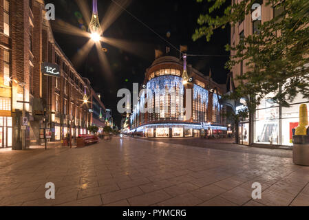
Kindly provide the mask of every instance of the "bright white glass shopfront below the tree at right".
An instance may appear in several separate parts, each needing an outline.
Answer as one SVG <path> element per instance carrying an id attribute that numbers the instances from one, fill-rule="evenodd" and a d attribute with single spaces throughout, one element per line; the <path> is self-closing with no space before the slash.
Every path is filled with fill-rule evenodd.
<path id="1" fill-rule="evenodd" d="M 293 129 L 299 124 L 299 107 L 309 100 L 297 96 L 290 107 L 281 107 L 271 99 L 262 100 L 251 120 L 239 124 L 239 144 L 292 146 Z"/>

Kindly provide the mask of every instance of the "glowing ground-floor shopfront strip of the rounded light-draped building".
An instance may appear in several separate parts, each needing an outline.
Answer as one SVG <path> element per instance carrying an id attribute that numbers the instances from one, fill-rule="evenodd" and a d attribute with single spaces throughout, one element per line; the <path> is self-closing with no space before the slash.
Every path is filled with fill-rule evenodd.
<path id="1" fill-rule="evenodd" d="M 204 137 L 226 135 L 226 127 L 202 124 L 148 124 L 133 129 L 130 133 L 139 133 L 145 137 Z"/>

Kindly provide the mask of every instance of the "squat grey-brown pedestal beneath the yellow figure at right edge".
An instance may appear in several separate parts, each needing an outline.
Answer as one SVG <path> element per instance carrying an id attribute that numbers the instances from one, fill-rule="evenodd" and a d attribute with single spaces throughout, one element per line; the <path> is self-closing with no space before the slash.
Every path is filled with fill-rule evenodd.
<path id="1" fill-rule="evenodd" d="M 293 163 L 309 166 L 309 135 L 293 135 Z"/>

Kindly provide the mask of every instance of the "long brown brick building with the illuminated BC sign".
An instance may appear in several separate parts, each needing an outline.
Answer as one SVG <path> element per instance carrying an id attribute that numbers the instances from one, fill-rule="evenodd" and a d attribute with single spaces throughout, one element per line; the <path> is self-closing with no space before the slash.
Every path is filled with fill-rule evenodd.
<path id="1" fill-rule="evenodd" d="M 40 144 L 45 128 L 49 141 L 87 133 L 92 100 L 105 109 L 54 41 L 43 0 L 0 1 L 0 58 L 0 147 Z"/>

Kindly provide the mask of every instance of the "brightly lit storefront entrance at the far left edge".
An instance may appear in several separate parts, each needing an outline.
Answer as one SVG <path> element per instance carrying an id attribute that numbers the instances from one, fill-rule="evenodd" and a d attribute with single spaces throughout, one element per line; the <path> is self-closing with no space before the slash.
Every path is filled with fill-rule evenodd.
<path id="1" fill-rule="evenodd" d="M 12 117 L 0 117 L 0 148 L 12 147 Z"/>

